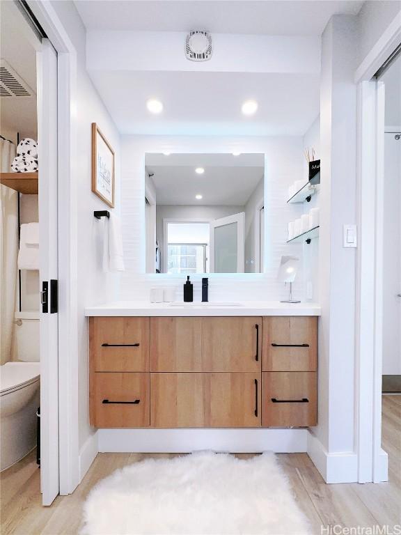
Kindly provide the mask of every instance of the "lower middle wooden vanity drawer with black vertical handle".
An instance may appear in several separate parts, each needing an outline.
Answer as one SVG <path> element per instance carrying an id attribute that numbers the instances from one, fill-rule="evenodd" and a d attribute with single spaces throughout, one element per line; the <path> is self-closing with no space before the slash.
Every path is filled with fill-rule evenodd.
<path id="1" fill-rule="evenodd" d="M 260 427 L 260 373 L 150 373 L 150 426 Z"/>

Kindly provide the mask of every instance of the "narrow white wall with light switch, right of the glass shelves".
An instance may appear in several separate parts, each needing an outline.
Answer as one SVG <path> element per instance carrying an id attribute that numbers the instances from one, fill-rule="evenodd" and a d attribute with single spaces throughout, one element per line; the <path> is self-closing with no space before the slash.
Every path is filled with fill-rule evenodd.
<path id="1" fill-rule="evenodd" d="M 312 458 L 321 472 L 340 454 L 354 463 L 356 249 L 344 249 L 344 223 L 356 222 L 356 17 L 335 15 L 322 36 L 320 93 L 320 304 L 318 425 Z M 329 453 L 330 457 L 327 457 Z M 322 458 L 324 462 L 322 463 Z M 352 470 L 351 470 L 352 465 Z M 332 474 L 331 474 L 332 475 Z M 333 479 L 332 479 L 333 481 Z M 341 481 L 341 479 L 340 479 Z M 345 481 L 345 479 L 343 479 Z"/>

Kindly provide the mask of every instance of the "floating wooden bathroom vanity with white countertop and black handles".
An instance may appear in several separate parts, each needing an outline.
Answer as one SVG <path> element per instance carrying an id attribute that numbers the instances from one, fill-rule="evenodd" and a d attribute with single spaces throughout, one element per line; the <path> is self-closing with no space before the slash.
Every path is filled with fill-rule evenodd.
<path id="1" fill-rule="evenodd" d="M 312 304 L 114 304 L 86 310 L 97 428 L 317 424 Z"/>

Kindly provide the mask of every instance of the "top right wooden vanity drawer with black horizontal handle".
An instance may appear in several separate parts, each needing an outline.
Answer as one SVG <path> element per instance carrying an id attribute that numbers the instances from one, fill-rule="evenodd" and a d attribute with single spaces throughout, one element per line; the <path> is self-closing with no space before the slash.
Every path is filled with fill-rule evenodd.
<path id="1" fill-rule="evenodd" d="M 317 318 L 263 318 L 263 371 L 316 371 Z"/>

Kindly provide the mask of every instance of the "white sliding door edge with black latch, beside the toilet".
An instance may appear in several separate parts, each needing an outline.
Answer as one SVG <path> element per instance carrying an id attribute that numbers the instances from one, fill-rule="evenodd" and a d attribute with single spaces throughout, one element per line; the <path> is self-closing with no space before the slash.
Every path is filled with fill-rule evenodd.
<path id="1" fill-rule="evenodd" d="M 40 289 L 48 284 L 40 306 L 40 483 L 42 504 L 50 505 L 59 491 L 58 313 L 56 289 L 50 289 L 58 279 L 57 54 L 47 39 L 38 52 L 38 153 Z"/>

